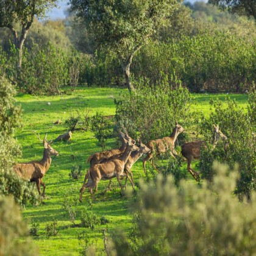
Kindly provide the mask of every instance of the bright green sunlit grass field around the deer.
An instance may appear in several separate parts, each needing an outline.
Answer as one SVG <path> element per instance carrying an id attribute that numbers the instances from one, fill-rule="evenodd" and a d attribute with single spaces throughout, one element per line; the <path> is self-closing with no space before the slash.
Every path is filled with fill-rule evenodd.
<path id="1" fill-rule="evenodd" d="M 40 160 L 43 155 L 43 145 L 34 135 L 34 131 L 40 133 L 41 138 L 48 133 L 48 140 L 52 140 L 62 133 L 66 132 L 63 124 L 54 125 L 54 121 L 61 119 L 65 121 L 70 112 L 75 110 L 85 111 L 89 108 L 90 115 L 101 112 L 104 115 L 115 115 L 114 98 L 118 98 L 119 93 L 124 91 L 117 88 L 82 88 L 74 93 L 63 96 L 30 96 L 27 94 L 18 94 L 16 100 L 23 107 L 23 129 L 16 133 L 19 143 L 23 147 L 23 158 L 18 159 L 19 162 L 27 162 L 30 160 Z M 219 98 L 224 100 L 224 94 L 193 94 L 193 105 L 191 110 L 202 111 L 205 116 L 210 113 L 210 99 Z M 242 94 L 229 94 L 229 97 L 236 99 L 241 107 L 246 108 L 247 96 Z M 48 102 L 51 104 L 48 105 Z M 189 127 L 185 127 L 186 130 Z M 111 148 L 113 141 L 107 144 L 107 149 Z M 54 143 L 52 147 L 59 151 L 58 157 L 52 157 L 52 164 L 44 176 L 46 183 L 46 196 L 44 204 L 38 206 L 28 205 L 23 211 L 24 218 L 40 222 L 39 236 L 34 238 L 35 243 L 39 247 L 41 255 L 78 255 L 80 246 L 77 236 L 86 230 L 89 243 L 93 243 L 97 247 L 99 255 L 104 254 L 102 229 L 104 226 L 96 227 L 96 229 L 85 229 L 79 226 L 73 226 L 68 216 L 63 210 L 63 201 L 67 197 L 79 198 L 79 190 L 82 186 L 84 176 L 79 180 L 73 180 L 69 177 L 69 172 L 73 165 L 81 164 L 83 174 L 88 168 L 86 163 L 87 157 L 94 152 L 101 151 L 96 146 L 96 139 L 93 133 L 77 131 L 73 133 L 71 143 Z M 72 157 L 72 155 L 74 157 Z M 135 181 L 143 179 L 144 173 L 142 162 L 137 162 L 133 166 Z M 117 227 L 123 230 L 129 230 L 132 225 L 132 215 L 127 207 L 129 201 L 126 197 L 120 195 L 116 180 L 114 181 L 114 189 L 102 193 L 107 188 L 108 182 L 99 183 L 98 193 L 96 193 L 96 201 L 91 201 L 90 194 L 85 191 L 83 202 L 79 204 L 78 209 L 84 207 L 93 207 L 93 212 L 99 216 L 106 216 L 109 219 L 107 224 L 108 230 L 114 230 Z M 115 188 L 116 187 L 116 188 Z M 79 211 L 78 211 L 79 212 Z M 57 236 L 51 236 L 49 239 L 45 235 L 45 226 L 49 222 L 56 220 L 59 222 L 60 231 Z M 78 214 L 76 224 L 80 223 Z"/>

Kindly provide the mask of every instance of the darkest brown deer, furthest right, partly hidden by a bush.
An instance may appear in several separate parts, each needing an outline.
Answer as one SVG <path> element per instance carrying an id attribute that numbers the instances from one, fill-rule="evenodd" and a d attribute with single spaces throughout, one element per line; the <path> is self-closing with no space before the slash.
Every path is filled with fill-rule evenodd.
<path id="1" fill-rule="evenodd" d="M 213 131 L 213 149 L 215 149 L 216 144 L 218 143 L 219 139 L 221 138 L 222 140 L 227 140 L 226 135 L 224 135 L 221 130 L 219 130 L 219 126 L 215 126 L 213 124 L 214 131 Z M 201 147 L 204 146 L 206 148 L 206 142 L 204 140 L 202 141 L 193 141 L 193 142 L 188 142 L 182 145 L 182 155 L 187 159 L 188 166 L 187 169 L 190 172 L 190 174 L 194 177 L 195 180 L 199 181 L 200 176 L 199 173 L 194 171 L 191 168 L 191 162 L 193 159 L 200 159 L 201 157 Z M 226 150 L 227 144 L 225 145 L 225 150 Z"/>

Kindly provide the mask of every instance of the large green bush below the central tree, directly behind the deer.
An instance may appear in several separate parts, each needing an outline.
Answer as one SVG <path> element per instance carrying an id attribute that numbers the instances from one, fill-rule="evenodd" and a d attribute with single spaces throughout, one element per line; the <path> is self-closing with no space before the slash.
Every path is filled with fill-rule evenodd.
<path id="1" fill-rule="evenodd" d="M 144 143 L 170 136 L 176 120 L 182 125 L 189 120 L 190 93 L 176 83 L 171 87 L 164 80 L 150 87 L 148 82 L 140 82 L 136 91 L 115 101 L 116 120 L 132 138 L 140 137 Z"/>

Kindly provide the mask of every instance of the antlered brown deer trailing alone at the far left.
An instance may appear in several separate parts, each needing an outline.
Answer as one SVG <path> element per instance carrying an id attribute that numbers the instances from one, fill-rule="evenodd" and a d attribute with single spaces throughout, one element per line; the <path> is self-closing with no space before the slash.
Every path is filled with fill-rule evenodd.
<path id="1" fill-rule="evenodd" d="M 13 167 L 13 170 L 20 176 L 21 178 L 25 180 L 29 180 L 30 182 L 35 182 L 37 184 L 37 190 L 40 196 L 44 197 L 44 191 L 46 185 L 42 181 L 43 176 L 48 171 L 52 159 L 51 155 L 59 155 L 59 152 L 55 151 L 50 145 L 51 141 L 48 142 L 46 139 L 46 136 L 44 137 L 44 140 L 41 140 L 40 137 L 38 139 L 43 142 L 44 144 L 44 151 L 43 151 L 43 159 L 41 161 L 31 161 L 28 163 L 16 163 L 16 165 Z M 43 193 L 41 194 L 40 185 L 43 185 Z"/>

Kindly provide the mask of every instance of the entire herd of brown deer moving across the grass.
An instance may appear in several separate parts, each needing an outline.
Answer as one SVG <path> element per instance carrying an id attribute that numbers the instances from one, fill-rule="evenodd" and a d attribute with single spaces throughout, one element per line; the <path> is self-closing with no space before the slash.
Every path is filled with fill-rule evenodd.
<path id="1" fill-rule="evenodd" d="M 213 127 L 214 130 L 212 150 L 215 149 L 219 139 L 227 140 L 227 137 L 221 132 L 219 126 L 215 126 L 215 124 L 213 124 Z M 155 155 L 169 152 L 171 157 L 176 158 L 177 152 L 174 149 L 174 144 L 179 134 L 185 130 L 176 122 L 176 126 L 172 130 L 172 133 L 169 137 L 151 140 L 148 142 L 148 144 L 145 145 L 140 140 L 133 140 L 131 137 L 129 137 L 126 129 L 124 127 L 122 128 L 124 130 L 124 133 L 121 132 L 121 130 L 118 131 L 118 136 L 121 141 L 120 148 L 97 152 L 88 157 L 87 163 L 90 163 L 90 168 L 85 174 L 84 183 L 82 185 L 82 188 L 80 189 L 80 202 L 82 202 L 82 195 L 86 188 L 88 188 L 91 196 L 94 198 L 94 193 L 97 191 L 98 183 L 100 182 L 100 180 L 110 180 L 111 182 L 111 180 L 116 177 L 119 183 L 119 187 L 121 188 L 121 192 L 123 193 L 124 188 L 121 184 L 121 177 L 126 177 L 124 187 L 126 187 L 128 179 L 134 190 L 135 185 L 132 174 L 132 166 L 134 165 L 134 163 L 137 162 L 137 160 L 142 155 L 146 155 L 146 157 L 144 157 L 143 159 L 143 169 L 144 173 L 146 174 L 146 162 L 149 160 L 153 168 L 157 169 L 152 161 Z M 37 184 L 38 193 L 40 194 L 40 196 L 44 197 L 46 185 L 44 184 L 42 179 L 51 165 L 51 156 L 57 156 L 59 155 L 59 152 L 55 151 L 55 149 L 52 148 L 52 141 L 47 140 L 47 134 L 44 137 L 44 140 L 41 140 L 39 135 L 37 135 L 37 137 L 41 142 L 43 142 L 44 145 L 42 160 L 34 160 L 27 163 L 16 163 L 16 165 L 13 166 L 13 170 L 21 178 L 28 180 L 29 182 L 35 182 Z M 200 180 L 200 176 L 198 172 L 194 171 L 191 168 L 191 162 L 193 159 L 200 158 L 202 147 L 207 147 L 207 143 L 205 141 L 188 142 L 183 144 L 181 147 L 181 154 L 183 158 L 187 160 L 188 172 L 190 172 L 190 174 L 197 181 Z M 41 193 L 40 190 L 41 185 L 43 186 L 43 193 Z M 109 183 L 108 187 L 110 187 L 110 185 L 111 183 Z"/>

